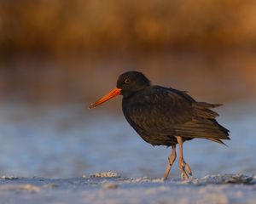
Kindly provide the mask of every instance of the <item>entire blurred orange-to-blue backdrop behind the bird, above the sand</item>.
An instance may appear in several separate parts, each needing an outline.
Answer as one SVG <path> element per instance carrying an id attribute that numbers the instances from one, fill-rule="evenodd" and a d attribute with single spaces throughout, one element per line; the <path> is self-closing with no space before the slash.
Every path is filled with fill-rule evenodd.
<path id="1" fill-rule="evenodd" d="M 184 144 L 195 177 L 255 174 L 255 12 L 253 0 L 0 0 L 1 175 L 162 176 L 171 150 L 137 136 L 121 97 L 87 108 L 124 71 L 224 104 L 229 148 Z"/>

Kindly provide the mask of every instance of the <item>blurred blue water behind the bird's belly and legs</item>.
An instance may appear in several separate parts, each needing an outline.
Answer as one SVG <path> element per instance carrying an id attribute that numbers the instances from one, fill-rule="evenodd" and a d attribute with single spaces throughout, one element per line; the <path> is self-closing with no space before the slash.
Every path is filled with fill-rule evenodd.
<path id="1" fill-rule="evenodd" d="M 1 104 L 1 175 L 69 178 L 112 170 L 128 177 L 163 176 L 171 150 L 145 143 L 119 106 Z M 184 144 L 185 161 L 195 177 L 256 174 L 255 105 L 228 104 L 218 112 L 218 121 L 230 129 L 229 147 L 194 139 Z M 179 177 L 177 161 L 171 176 Z"/>

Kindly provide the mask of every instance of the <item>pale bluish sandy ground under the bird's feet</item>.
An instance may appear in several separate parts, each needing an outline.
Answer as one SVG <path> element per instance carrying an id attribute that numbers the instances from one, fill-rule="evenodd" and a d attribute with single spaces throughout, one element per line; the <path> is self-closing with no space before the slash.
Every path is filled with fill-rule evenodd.
<path id="1" fill-rule="evenodd" d="M 123 178 L 96 173 L 80 178 L 0 179 L 0 203 L 256 203 L 256 177 L 212 175 L 186 181 Z"/>

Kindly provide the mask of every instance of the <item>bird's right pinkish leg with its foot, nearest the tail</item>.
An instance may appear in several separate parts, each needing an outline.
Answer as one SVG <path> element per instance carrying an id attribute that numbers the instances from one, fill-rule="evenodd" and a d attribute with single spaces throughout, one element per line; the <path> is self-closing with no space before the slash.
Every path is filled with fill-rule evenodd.
<path id="1" fill-rule="evenodd" d="M 189 173 L 189 175 L 191 176 L 192 172 L 189 165 L 183 159 L 183 139 L 180 136 L 176 136 L 176 139 L 177 139 L 178 148 L 179 148 L 178 168 L 181 173 L 181 178 L 187 179 L 189 178 L 187 173 Z"/>

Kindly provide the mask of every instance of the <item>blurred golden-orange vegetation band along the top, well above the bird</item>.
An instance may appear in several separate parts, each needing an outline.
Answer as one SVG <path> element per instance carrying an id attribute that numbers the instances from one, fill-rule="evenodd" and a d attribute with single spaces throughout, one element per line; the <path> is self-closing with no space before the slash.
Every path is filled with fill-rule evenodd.
<path id="1" fill-rule="evenodd" d="M 1 0 L 2 54 L 256 47 L 254 0 Z"/>

